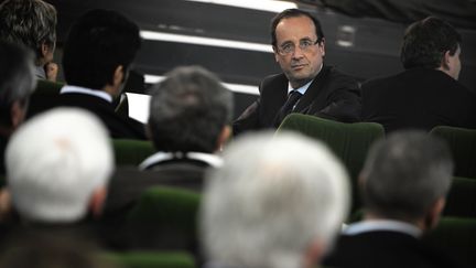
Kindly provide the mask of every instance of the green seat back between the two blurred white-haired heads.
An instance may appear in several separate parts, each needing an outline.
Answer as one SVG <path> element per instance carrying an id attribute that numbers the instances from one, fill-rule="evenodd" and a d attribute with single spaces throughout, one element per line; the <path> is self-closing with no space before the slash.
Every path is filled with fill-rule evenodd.
<path id="1" fill-rule="evenodd" d="M 191 190 L 149 187 L 127 215 L 131 244 L 196 253 L 199 203 L 201 194 Z"/>

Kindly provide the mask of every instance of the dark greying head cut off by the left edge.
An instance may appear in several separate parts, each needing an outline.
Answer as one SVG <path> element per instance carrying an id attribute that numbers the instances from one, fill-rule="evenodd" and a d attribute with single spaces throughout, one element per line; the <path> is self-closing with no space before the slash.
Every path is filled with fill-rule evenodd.
<path id="1" fill-rule="evenodd" d="M 33 54 L 21 44 L 0 41 L 0 126 L 12 127 L 11 108 L 26 108 L 36 86 Z"/>

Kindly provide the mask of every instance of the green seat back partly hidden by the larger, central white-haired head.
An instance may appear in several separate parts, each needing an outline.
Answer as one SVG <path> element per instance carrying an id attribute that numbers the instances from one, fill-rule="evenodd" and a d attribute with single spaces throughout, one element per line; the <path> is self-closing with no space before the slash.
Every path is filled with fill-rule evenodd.
<path id="1" fill-rule="evenodd" d="M 326 143 L 339 158 L 350 175 L 353 186 L 353 208 L 360 206 L 357 180 L 370 146 L 385 137 L 383 127 L 376 122 L 339 122 L 315 116 L 291 114 L 284 118 L 277 135 L 284 130 L 301 132 Z"/>

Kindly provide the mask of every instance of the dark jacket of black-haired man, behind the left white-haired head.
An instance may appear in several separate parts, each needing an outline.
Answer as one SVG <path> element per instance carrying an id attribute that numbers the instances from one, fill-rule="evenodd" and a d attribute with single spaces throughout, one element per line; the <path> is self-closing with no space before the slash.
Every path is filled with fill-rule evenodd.
<path id="1" fill-rule="evenodd" d="M 91 111 L 106 125 L 111 138 L 147 139 L 143 124 L 117 114 L 111 104 L 99 97 L 65 93 L 57 96 L 55 106 L 78 107 Z"/>

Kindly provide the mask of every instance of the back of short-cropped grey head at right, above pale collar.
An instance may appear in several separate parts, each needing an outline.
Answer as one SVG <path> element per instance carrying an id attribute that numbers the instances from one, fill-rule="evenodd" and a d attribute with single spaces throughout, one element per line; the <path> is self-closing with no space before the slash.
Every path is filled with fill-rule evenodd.
<path id="1" fill-rule="evenodd" d="M 453 161 L 446 143 L 425 132 L 398 131 L 372 146 L 360 190 L 369 212 L 415 221 L 445 197 L 452 178 Z"/>

